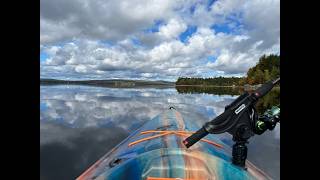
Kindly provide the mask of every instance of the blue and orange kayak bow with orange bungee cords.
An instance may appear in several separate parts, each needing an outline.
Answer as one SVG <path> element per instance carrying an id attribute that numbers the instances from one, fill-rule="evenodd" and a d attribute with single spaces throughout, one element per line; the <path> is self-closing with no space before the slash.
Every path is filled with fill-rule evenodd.
<path id="1" fill-rule="evenodd" d="M 232 164 L 232 149 L 209 134 L 190 148 L 183 140 L 201 126 L 171 108 L 145 123 L 77 180 L 271 179 L 248 160 Z"/>

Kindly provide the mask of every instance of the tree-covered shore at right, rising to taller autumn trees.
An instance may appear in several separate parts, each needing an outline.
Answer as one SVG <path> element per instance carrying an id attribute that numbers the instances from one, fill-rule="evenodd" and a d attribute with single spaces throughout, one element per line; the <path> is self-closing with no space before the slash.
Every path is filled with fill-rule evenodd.
<path id="1" fill-rule="evenodd" d="M 177 86 L 244 86 L 259 85 L 280 77 L 280 56 L 262 56 L 246 77 L 189 78 L 180 77 Z"/>

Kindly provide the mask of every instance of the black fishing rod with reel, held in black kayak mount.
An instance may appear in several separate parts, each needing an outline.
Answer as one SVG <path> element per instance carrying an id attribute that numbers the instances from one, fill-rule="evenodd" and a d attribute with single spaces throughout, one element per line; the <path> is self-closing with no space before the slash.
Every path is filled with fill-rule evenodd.
<path id="1" fill-rule="evenodd" d="M 233 136 L 235 144 L 232 146 L 232 163 L 240 167 L 245 166 L 247 158 L 248 139 L 254 134 L 262 134 L 266 130 L 273 130 L 280 122 L 280 108 L 273 107 L 263 116 L 256 113 L 256 102 L 265 96 L 280 82 L 280 77 L 263 84 L 253 93 L 245 92 L 225 107 L 225 111 L 206 122 L 202 128 L 186 138 L 183 143 L 189 148 L 206 135 L 228 132 Z"/>

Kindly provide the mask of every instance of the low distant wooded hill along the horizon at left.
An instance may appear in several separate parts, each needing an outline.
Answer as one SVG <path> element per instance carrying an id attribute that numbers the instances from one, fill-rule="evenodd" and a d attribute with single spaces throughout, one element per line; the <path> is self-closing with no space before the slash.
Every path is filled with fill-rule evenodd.
<path id="1" fill-rule="evenodd" d="M 169 81 L 147 81 L 147 80 L 58 80 L 58 79 L 40 79 L 40 85 L 90 85 L 102 87 L 130 88 L 130 87 L 167 87 L 174 86 L 174 82 Z"/>

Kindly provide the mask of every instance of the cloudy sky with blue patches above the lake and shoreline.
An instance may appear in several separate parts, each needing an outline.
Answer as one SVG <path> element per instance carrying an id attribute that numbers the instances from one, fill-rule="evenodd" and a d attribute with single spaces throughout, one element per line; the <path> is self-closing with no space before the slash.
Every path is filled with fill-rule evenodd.
<path id="1" fill-rule="evenodd" d="M 41 0 L 40 77 L 244 76 L 280 54 L 280 0 Z"/>

